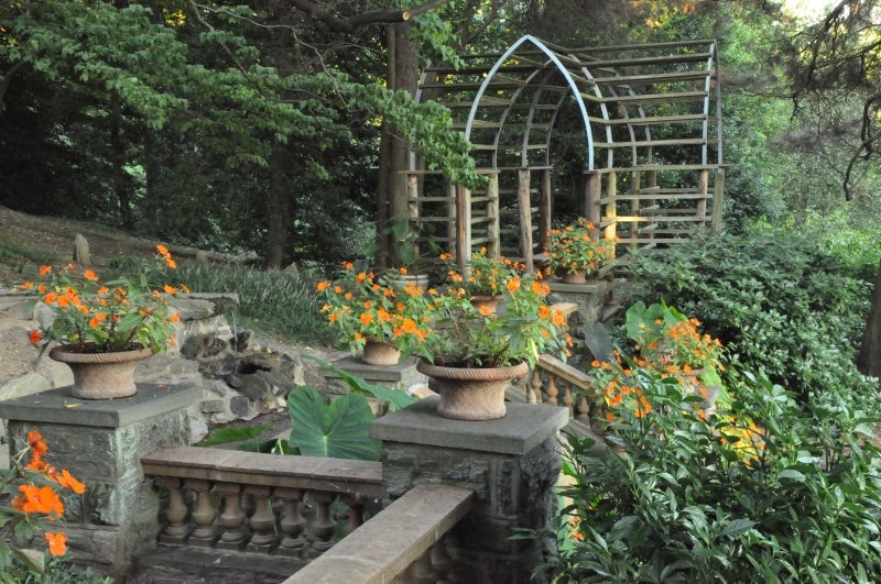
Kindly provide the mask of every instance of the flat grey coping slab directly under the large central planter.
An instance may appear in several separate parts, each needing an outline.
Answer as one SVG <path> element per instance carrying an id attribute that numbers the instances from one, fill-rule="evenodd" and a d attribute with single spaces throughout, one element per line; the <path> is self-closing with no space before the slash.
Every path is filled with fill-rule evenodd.
<path id="1" fill-rule="evenodd" d="M 439 397 L 428 397 L 370 425 L 370 436 L 383 441 L 499 454 L 525 454 L 559 431 L 569 420 L 566 408 L 507 403 L 503 418 L 450 420 L 437 411 Z"/>

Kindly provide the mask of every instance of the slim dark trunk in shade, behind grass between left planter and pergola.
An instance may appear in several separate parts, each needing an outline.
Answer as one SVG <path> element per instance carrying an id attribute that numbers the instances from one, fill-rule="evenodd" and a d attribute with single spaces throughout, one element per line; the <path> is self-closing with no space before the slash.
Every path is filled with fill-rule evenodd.
<path id="1" fill-rule="evenodd" d="M 269 192 L 267 192 L 267 267 L 283 267 L 287 260 L 287 228 L 291 224 L 291 183 L 287 170 L 291 156 L 283 145 L 276 145 L 269 158 Z"/>

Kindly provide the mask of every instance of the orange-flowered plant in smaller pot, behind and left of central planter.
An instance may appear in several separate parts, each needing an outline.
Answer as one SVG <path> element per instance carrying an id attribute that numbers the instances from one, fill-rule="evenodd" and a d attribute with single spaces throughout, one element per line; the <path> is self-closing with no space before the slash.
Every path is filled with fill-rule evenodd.
<path id="1" fill-rule="evenodd" d="M 418 335 L 423 329 L 417 319 L 423 318 L 431 301 L 422 286 L 401 276 L 406 276 L 406 269 L 378 276 L 357 272 L 347 262 L 335 280 L 318 283 L 317 291 L 324 300 L 320 311 L 339 332 L 344 346 L 357 352 L 368 339 L 396 345 L 404 333 Z"/>

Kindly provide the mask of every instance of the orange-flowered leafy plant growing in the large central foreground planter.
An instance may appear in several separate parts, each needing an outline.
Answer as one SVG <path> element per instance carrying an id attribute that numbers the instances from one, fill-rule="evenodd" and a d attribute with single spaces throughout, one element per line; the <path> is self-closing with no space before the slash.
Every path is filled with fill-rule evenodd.
<path id="1" fill-rule="evenodd" d="M 513 276 L 501 288 L 502 308 L 477 307 L 464 287 L 452 285 L 444 293 L 429 291 L 431 300 L 416 315 L 417 326 L 403 330 L 399 346 L 433 365 L 449 367 L 500 367 L 522 361 L 534 366 L 539 354 L 567 354 L 568 335 L 562 311 L 544 302 L 551 288 L 531 276 Z"/>

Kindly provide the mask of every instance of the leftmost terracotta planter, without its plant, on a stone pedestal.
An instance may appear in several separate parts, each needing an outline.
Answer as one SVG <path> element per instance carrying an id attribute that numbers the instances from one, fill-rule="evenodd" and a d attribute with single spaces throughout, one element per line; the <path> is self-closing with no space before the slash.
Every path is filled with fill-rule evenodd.
<path id="1" fill-rule="evenodd" d="M 152 349 L 137 349 L 115 353 L 78 353 L 62 345 L 52 349 L 48 356 L 67 364 L 74 373 L 70 390 L 79 399 L 113 399 L 133 396 L 134 367 L 153 354 Z"/>

